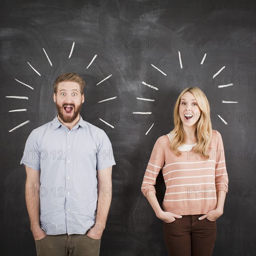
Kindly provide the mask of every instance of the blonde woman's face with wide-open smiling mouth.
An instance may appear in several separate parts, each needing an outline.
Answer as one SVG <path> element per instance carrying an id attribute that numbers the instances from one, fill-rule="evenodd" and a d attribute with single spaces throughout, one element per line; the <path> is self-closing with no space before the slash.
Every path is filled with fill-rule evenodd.
<path id="1" fill-rule="evenodd" d="M 182 95 L 179 110 L 183 126 L 196 126 L 201 109 L 197 105 L 194 94 L 186 92 Z"/>

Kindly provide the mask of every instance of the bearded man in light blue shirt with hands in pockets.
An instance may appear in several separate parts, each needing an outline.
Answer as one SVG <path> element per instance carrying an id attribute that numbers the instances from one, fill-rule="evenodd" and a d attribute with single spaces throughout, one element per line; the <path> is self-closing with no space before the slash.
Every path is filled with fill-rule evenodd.
<path id="1" fill-rule="evenodd" d="M 60 75 L 54 82 L 58 115 L 29 135 L 27 210 L 38 256 L 99 255 L 111 202 L 115 165 L 108 136 L 84 121 L 84 80 Z"/>

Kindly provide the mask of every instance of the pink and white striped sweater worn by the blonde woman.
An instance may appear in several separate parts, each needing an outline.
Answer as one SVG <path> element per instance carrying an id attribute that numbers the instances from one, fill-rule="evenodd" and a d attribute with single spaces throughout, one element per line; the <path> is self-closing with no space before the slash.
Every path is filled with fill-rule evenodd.
<path id="1" fill-rule="evenodd" d="M 164 211 L 178 215 L 206 214 L 216 209 L 219 190 L 228 192 L 228 174 L 221 134 L 212 130 L 210 158 L 196 155 L 192 150 L 176 156 L 169 148 L 168 135 L 155 142 L 146 169 L 141 191 L 155 192 L 155 179 L 162 169 L 166 185 Z M 223 192 L 222 192 L 223 193 Z"/>

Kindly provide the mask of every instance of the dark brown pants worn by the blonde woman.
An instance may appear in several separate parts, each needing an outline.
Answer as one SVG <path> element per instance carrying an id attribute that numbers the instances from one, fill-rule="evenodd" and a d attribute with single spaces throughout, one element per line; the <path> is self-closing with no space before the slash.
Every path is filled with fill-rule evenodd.
<path id="1" fill-rule="evenodd" d="M 185 215 L 174 222 L 163 222 L 169 256 L 211 256 L 216 239 L 216 221 L 200 215 Z"/>

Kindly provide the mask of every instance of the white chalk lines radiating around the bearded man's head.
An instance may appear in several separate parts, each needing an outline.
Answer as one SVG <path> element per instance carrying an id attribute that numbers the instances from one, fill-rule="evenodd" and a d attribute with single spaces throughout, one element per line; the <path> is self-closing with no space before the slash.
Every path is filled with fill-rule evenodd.
<path id="1" fill-rule="evenodd" d="M 70 58 L 72 57 L 72 54 L 73 54 L 73 51 L 74 51 L 74 45 L 75 45 L 75 42 L 73 42 L 73 44 L 72 44 L 72 47 L 71 47 L 71 49 L 70 49 L 70 53 L 69 53 L 69 55 L 68 55 L 68 59 L 70 59 Z M 53 67 L 53 64 L 52 64 L 52 62 L 51 62 L 51 60 L 50 60 L 50 58 L 49 58 L 49 56 L 48 56 L 46 50 L 45 50 L 43 47 L 42 47 L 42 50 L 43 50 L 44 54 L 46 55 L 46 58 L 47 58 L 48 62 L 50 63 L 50 66 Z M 88 68 L 88 67 L 90 67 L 90 66 L 92 65 L 92 63 L 94 62 L 94 60 L 96 59 L 96 57 L 97 57 L 97 54 L 94 55 L 93 59 L 91 60 L 91 62 L 89 63 L 89 65 L 88 65 L 86 68 Z M 41 76 L 41 74 L 37 71 L 37 69 L 35 69 L 28 61 L 27 61 L 27 64 L 34 70 L 34 72 L 35 72 L 36 74 L 38 74 L 39 76 Z M 107 80 L 107 79 L 108 79 L 109 77 L 111 77 L 111 76 L 112 76 L 112 74 L 108 75 L 105 79 L 103 79 L 102 81 L 100 81 L 99 83 L 97 83 L 97 85 L 101 84 L 103 81 Z M 15 80 L 16 80 L 17 82 L 19 82 L 20 84 L 25 85 L 25 86 L 27 86 L 28 88 L 34 90 L 34 88 L 31 87 L 30 85 L 28 85 L 28 84 L 26 84 L 26 83 L 23 83 L 22 81 L 19 81 L 19 80 L 17 80 L 17 79 L 15 79 Z M 6 98 L 28 100 L 28 97 L 27 97 L 27 96 L 6 96 Z M 102 100 L 102 101 L 98 101 L 98 103 L 101 103 L 101 102 L 104 102 L 104 101 L 114 100 L 114 99 L 116 99 L 116 98 L 117 98 L 117 96 L 112 97 L 112 98 L 108 98 L 108 99 L 105 99 L 105 100 Z M 144 100 L 148 100 L 148 99 L 144 99 Z M 148 100 L 148 101 L 149 101 L 149 100 Z M 9 112 L 21 112 L 21 111 L 27 111 L 27 108 L 20 108 L 20 109 L 9 110 Z M 99 118 L 99 119 L 100 119 L 102 122 L 104 122 L 105 124 L 107 124 L 109 127 L 114 128 L 113 125 L 111 125 L 111 124 L 109 124 L 108 122 L 102 120 L 101 118 Z M 30 122 L 30 120 L 25 121 L 25 122 L 21 123 L 20 125 L 18 125 L 18 126 L 16 126 L 16 127 L 12 128 L 11 130 L 9 130 L 9 132 L 13 132 L 14 130 L 16 130 L 16 129 L 22 127 L 23 125 L 25 125 L 25 124 L 27 124 L 27 123 L 29 123 L 29 122 Z"/>

